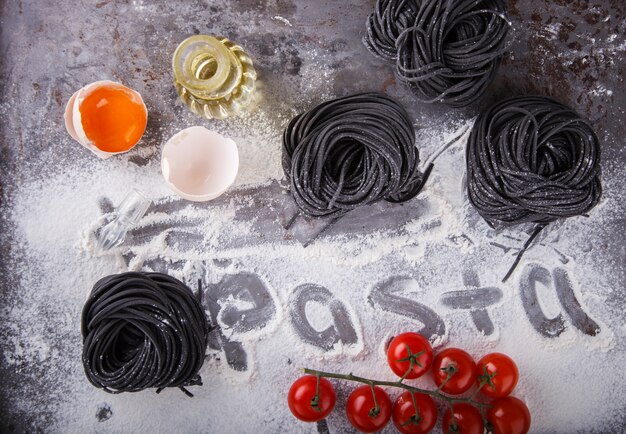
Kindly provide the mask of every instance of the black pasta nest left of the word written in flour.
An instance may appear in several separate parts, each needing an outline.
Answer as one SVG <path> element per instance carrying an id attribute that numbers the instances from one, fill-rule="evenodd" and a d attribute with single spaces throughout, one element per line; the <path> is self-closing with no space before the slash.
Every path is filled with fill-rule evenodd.
<path id="1" fill-rule="evenodd" d="M 198 288 L 200 291 L 201 288 Z M 94 285 L 82 312 L 83 366 L 109 393 L 201 385 L 209 324 L 199 300 L 161 273 L 128 272 Z"/>

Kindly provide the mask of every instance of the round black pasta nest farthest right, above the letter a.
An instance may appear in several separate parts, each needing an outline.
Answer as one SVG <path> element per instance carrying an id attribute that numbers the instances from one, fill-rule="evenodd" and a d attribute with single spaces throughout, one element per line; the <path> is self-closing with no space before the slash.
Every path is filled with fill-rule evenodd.
<path id="1" fill-rule="evenodd" d="M 491 225 L 547 223 L 590 211 L 600 200 L 600 145 L 569 107 L 514 97 L 483 112 L 467 143 L 467 190 Z"/>

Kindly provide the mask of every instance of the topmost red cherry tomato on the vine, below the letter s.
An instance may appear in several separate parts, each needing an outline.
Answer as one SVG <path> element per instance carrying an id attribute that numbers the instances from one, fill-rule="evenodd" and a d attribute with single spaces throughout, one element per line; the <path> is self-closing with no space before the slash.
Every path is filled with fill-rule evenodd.
<path id="1" fill-rule="evenodd" d="M 409 354 L 409 350 L 411 354 Z M 411 355 L 414 355 L 412 367 Z M 424 375 L 430 368 L 433 362 L 433 348 L 428 340 L 419 333 L 402 333 L 389 343 L 387 362 L 398 377 L 403 377 L 406 374 L 404 378 L 417 378 Z"/>

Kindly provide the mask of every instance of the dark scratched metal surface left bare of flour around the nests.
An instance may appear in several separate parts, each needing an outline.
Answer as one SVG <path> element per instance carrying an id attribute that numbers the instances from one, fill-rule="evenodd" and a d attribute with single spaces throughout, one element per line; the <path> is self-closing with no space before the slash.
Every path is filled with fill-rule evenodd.
<path id="1" fill-rule="evenodd" d="M 391 69 L 380 67 L 362 46 L 363 23 L 372 10 L 373 0 L 191 0 L 137 7 L 141 3 L 0 1 L 1 303 L 13 299 L 10 296 L 16 290 L 11 258 L 19 257 L 19 251 L 14 245 L 9 211 L 18 187 L 30 177 L 53 172 L 68 159 L 80 162 L 93 158 L 64 145 L 62 114 L 69 96 L 81 85 L 106 77 L 144 89 L 142 93 L 152 110 L 142 147 L 154 152 L 147 153 L 149 157 L 134 154 L 129 158 L 137 165 L 146 164 L 146 158 L 158 158 L 164 137 L 179 127 L 181 119 L 183 124 L 194 121 L 177 103 L 170 85 L 171 53 L 177 42 L 191 33 L 224 34 L 241 43 L 255 59 L 266 94 L 275 95 L 276 99 L 299 101 L 302 50 L 317 46 L 334 59 L 332 80 L 338 95 L 364 89 L 383 90 L 400 98 L 413 114 L 422 117 L 437 116 L 446 110 L 416 104 L 397 85 Z M 605 179 L 623 174 L 620 169 L 625 163 L 625 53 L 623 49 L 606 49 L 626 37 L 623 0 L 509 0 L 509 8 L 515 23 L 510 54 L 488 96 L 465 112 L 476 113 L 490 102 L 513 94 L 554 96 L 576 107 L 593 123 L 603 143 Z M 226 9 L 227 14 L 223 13 Z M 264 31 L 251 32 L 246 22 L 236 18 L 237 12 L 246 20 L 264 23 Z M 286 18 L 293 28 L 287 29 L 281 21 L 272 20 L 274 16 Z M 553 23 L 560 23 L 558 33 L 546 35 L 546 28 Z M 615 34 L 618 41 L 610 41 L 610 35 Z M 563 54 L 569 61 L 564 60 Z M 612 94 L 595 91 L 599 84 L 612 90 Z M 279 107 L 272 97 L 267 104 Z M 279 122 L 278 117 L 274 122 Z M 170 130 L 165 131 L 160 125 L 170 125 Z M 624 190 L 624 181 L 615 181 L 617 191 Z M 272 192 L 263 194 L 271 196 Z M 333 230 L 345 233 L 357 226 L 346 223 Z M 610 222 L 603 233 L 601 254 L 617 264 L 615 272 L 623 287 L 623 219 Z M 613 302 L 623 305 L 624 298 Z M 31 425 L 28 411 L 12 406 L 12 394 L 19 393 L 20 381 L 36 379 L 23 378 L 22 374 L 0 366 L 0 428 L 45 431 L 45 426 Z M 51 397 L 53 392 L 41 390 Z M 624 415 L 616 416 L 623 421 Z M 615 427 L 615 420 L 599 420 L 599 432 L 605 423 Z"/>

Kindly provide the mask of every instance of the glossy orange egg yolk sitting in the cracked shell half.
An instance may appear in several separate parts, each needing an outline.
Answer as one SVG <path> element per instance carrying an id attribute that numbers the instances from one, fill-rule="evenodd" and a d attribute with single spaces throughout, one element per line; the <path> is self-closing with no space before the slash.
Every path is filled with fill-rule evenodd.
<path id="1" fill-rule="evenodd" d="M 141 98 L 122 85 L 93 89 L 79 111 L 85 135 L 105 152 L 128 151 L 141 139 L 148 122 Z"/>

